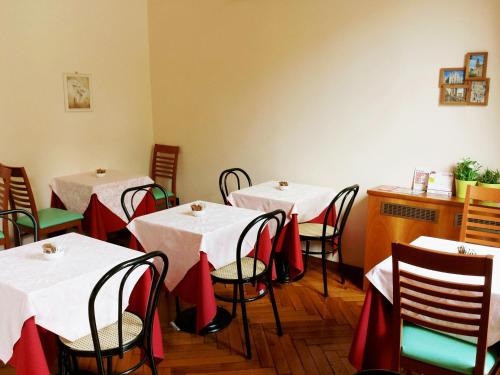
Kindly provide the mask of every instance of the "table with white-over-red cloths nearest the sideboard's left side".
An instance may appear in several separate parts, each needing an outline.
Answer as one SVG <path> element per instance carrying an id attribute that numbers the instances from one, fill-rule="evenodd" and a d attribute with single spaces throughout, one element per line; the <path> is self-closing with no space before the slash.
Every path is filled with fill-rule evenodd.
<path id="1" fill-rule="evenodd" d="M 276 259 L 281 281 L 297 278 L 304 272 L 299 223 L 323 223 L 326 209 L 335 197 L 329 187 L 279 181 L 267 181 L 233 191 L 228 202 L 235 207 L 263 212 L 281 209 L 286 213 L 285 226 L 278 239 Z M 335 210 L 331 210 L 328 222 L 333 225 Z M 286 265 L 286 267 L 283 267 Z M 285 268 L 285 269 L 284 269 Z"/>

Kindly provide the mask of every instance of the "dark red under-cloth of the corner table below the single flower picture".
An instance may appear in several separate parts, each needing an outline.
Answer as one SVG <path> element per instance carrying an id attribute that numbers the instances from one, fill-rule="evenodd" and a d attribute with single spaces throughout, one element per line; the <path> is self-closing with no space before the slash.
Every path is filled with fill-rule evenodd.
<path id="1" fill-rule="evenodd" d="M 52 192 L 50 206 L 63 210 L 66 209 L 64 203 L 54 192 Z M 137 206 L 134 217 L 155 211 L 156 204 L 154 198 L 151 194 L 146 194 L 142 202 Z M 89 205 L 83 213 L 83 229 L 90 237 L 106 241 L 108 233 L 121 230 L 126 225 L 126 222 L 99 201 L 96 194 L 92 194 Z"/>

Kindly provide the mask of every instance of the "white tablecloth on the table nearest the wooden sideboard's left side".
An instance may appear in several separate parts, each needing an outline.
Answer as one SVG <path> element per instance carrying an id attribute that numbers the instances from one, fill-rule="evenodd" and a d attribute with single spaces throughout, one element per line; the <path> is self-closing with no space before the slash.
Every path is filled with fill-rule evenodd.
<path id="1" fill-rule="evenodd" d="M 335 191 L 328 187 L 289 183 L 287 190 L 280 190 L 277 181 L 269 181 L 233 191 L 228 200 L 235 207 L 264 212 L 281 209 L 287 222 L 297 214 L 298 222 L 304 223 L 319 216 L 334 197 Z"/>

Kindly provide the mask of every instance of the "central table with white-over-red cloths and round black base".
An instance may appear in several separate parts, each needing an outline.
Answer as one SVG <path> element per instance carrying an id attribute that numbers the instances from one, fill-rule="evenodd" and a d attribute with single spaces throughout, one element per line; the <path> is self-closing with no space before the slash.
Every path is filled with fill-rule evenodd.
<path id="1" fill-rule="evenodd" d="M 203 208 L 194 213 L 192 205 Z M 143 215 L 130 222 L 131 247 L 159 250 L 169 259 L 165 285 L 181 300 L 195 305 L 178 313 L 174 324 L 179 329 L 199 334 L 216 332 L 232 317 L 217 306 L 210 272 L 236 261 L 237 243 L 245 227 L 262 212 L 211 202 L 192 202 Z M 195 216 L 197 215 L 197 216 Z M 258 257 L 269 261 L 269 231 L 262 232 Z M 257 228 L 242 243 L 241 256 L 251 253 Z M 137 242 L 136 242 L 137 241 Z"/>

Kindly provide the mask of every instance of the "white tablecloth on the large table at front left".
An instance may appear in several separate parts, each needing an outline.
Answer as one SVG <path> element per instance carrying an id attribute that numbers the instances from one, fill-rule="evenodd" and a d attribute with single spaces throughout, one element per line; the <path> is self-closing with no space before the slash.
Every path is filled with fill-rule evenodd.
<path id="1" fill-rule="evenodd" d="M 64 247 L 65 254 L 43 258 L 41 245 L 47 242 Z M 10 359 L 24 322 L 32 316 L 37 325 L 68 340 L 88 335 L 88 301 L 95 284 L 115 265 L 141 255 L 77 233 L 0 251 L 0 360 Z M 143 273 L 138 270 L 127 281 L 124 308 Z M 117 319 L 119 281 L 113 277 L 99 292 L 99 327 Z"/>

